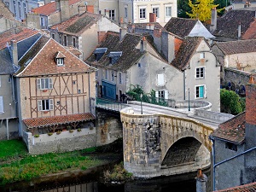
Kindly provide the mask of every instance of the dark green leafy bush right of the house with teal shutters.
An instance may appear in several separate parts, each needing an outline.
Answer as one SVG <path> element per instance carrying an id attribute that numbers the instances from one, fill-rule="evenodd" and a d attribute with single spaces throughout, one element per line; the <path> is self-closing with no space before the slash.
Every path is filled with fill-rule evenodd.
<path id="1" fill-rule="evenodd" d="M 223 113 L 238 114 L 245 110 L 245 100 L 233 90 L 220 90 L 220 108 Z"/>

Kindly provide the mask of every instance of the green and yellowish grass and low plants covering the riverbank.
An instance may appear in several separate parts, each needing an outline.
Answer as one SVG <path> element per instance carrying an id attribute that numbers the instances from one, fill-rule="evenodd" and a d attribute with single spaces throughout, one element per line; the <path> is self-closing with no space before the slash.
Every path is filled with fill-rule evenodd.
<path id="1" fill-rule="evenodd" d="M 120 143 L 120 141 L 116 143 Z M 102 157 L 103 153 L 118 152 L 109 154 L 112 160 L 120 159 L 120 154 L 122 154 L 119 153 L 120 148 L 113 147 L 113 144 L 67 153 L 38 155 L 28 154 L 26 145 L 21 140 L 1 141 L 0 148 L 0 185 L 29 181 L 52 173 L 84 171 L 109 161 Z"/>

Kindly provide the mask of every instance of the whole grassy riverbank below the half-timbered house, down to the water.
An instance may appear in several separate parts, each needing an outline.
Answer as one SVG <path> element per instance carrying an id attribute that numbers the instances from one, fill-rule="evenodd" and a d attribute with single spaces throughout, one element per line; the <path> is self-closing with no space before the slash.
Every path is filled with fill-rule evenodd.
<path id="1" fill-rule="evenodd" d="M 96 172 L 101 172 L 100 169 L 103 171 L 122 159 L 120 141 L 99 148 L 39 155 L 28 154 L 23 145 L 17 140 L 0 142 L 0 147 L 3 147 L 0 154 L 0 185 L 30 181 L 33 186 L 50 181 L 65 183 L 67 179 L 76 181 L 86 175 L 92 178 Z"/>

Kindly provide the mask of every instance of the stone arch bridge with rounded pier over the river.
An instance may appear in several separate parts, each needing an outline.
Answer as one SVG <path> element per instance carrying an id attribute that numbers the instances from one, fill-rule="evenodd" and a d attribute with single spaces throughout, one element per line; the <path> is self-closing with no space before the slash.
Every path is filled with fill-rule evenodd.
<path id="1" fill-rule="evenodd" d="M 211 165 L 213 128 L 196 119 L 121 110 L 124 165 L 135 177 L 194 172 Z"/>

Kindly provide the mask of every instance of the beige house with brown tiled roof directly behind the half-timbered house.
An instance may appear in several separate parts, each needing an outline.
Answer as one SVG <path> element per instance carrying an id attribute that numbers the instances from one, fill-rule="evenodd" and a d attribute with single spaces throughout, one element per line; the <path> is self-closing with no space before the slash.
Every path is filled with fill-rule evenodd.
<path id="1" fill-rule="evenodd" d="M 109 30 L 119 32 L 120 26 L 104 15 L 86 12 L 74 15 L 69 20 L 51 26 L 51 37 L 64 46 L 73 46 L 79 49 L 86 59 L 96 48 L 100 39 Z"/>

